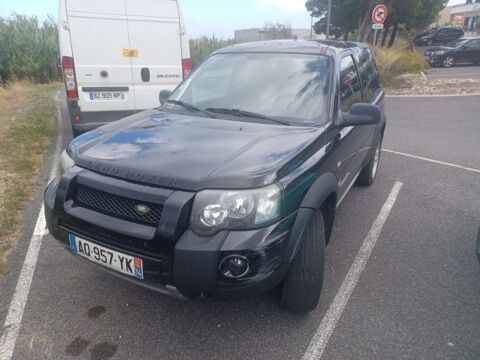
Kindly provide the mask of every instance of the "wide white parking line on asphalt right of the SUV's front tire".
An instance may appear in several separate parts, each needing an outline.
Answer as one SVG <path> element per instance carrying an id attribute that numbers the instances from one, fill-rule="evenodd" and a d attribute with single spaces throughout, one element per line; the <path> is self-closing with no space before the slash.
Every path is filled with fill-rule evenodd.
<path id="1" fill-rule="evenodd" d="M 343 280 L 340 289 L 338 289 L 335 298 L 333 299 L 332 303 L 330 304 L 327 313 L 325 314 L 320 326 L 317 329 L 317 332 L 313 336 L 310 345 L 308 346 L 307 351 L 303 355 L 303 360 L 313 360 L 313 359 L 320 359 L 323 352 L 325 351 L 325 347 L 327 346 L 328 340 L 332 335 L 335 327 L 338 323 L 338 320 L 342 316 L 345 307 L 348 304 L 348 300 L 357 285 L 358 279 L 362 275 L 365 266 L 367 265 L 367 261 L 372 254 L 373 248 L 375 247 L 378 238 L 382 232 L 383 226 L 385 225 L 388 216 L 390 215 L 390 211 L 393 208 L 393 205 L 397 201 L 398 194 L 402 189 L 403 183 L 396 182 L 390 192 L 390 195 L 387 198 L 387 201 L 380 210 L 380 213 L 377 216 L 377 219 L 372 225 L 370 232 L 368 233 L 367 237 L 363 241 L 363 244 L 358 251 L 355 260 L 353 261 L 352 266 L 350 266 L 350 270 L 348 271 L 347 276 Z"/>

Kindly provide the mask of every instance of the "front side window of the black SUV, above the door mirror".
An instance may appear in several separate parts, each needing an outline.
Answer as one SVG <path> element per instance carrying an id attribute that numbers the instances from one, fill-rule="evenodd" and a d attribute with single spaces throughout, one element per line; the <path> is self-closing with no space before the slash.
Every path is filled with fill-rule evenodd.
<path id="1" fill-rule="evenodd" d="M 353 57 L 344 57 L 340 63 L 340 109 L 347 112 L 353 104 L 361 102 L 362 89 Z"/>

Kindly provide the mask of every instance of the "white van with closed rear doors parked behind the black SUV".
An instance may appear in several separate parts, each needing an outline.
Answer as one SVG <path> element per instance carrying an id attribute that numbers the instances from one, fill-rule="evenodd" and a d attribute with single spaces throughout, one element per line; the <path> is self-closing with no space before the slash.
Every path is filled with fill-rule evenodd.
<path id="1" fill-rule="evenodd" d="M 60 0 L 58 30 L 74 136 L 159 106 L 191 72 L 180 0 Z"/>

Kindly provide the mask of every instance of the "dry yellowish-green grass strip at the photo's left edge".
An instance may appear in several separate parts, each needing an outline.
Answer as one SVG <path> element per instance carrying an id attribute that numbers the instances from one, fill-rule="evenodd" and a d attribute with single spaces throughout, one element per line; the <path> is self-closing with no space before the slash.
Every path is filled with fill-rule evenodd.
<path id="1" fill-rule="evenodd" d="M 58 83 L 0 88 L 0 272 L 55 134 L 58 89 Z"/>

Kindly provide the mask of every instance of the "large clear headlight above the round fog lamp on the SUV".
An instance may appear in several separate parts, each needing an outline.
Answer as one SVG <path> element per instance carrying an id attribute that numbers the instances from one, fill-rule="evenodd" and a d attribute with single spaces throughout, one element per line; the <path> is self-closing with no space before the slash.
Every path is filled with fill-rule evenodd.
<path id="1" fill-rule="evenodd" d="M 190 226 L 199 235 L 252 229 L 277 220 L 281 204 L 278 185 L 254 190 L 204 190 L 195 196 Z"/>

